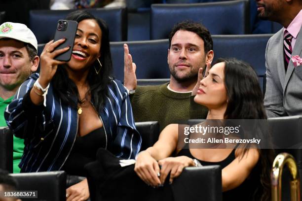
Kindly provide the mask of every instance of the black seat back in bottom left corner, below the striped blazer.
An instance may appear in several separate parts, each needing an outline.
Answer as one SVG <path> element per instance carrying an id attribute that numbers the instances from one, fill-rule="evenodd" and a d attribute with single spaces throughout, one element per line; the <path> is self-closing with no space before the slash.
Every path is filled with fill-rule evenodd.
<path id="1" fill-rule="evenodd" d="M 64 171 L 10 174 L 22 191 L 37 191 L 38 201 L 66 201 L 66 173 Z M 36 199 L 22 199 L 33 201 Z"/>

